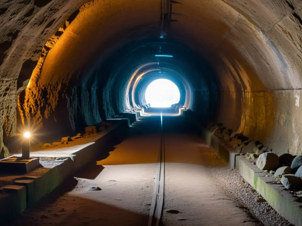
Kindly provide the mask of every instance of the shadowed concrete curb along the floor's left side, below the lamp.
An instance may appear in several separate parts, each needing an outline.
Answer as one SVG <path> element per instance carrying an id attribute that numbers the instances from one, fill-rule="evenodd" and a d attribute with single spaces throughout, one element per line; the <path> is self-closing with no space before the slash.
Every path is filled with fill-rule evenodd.
<path id="1" fill-rule="evenodd" d="M 118 124 L 103 131 L 103 136 L 94 143 L 73 153 L 75 155 L 73 159 L 69 157 L 65 162 L 53 168 L 42 168 L 39 175 L 32 171 L 25 176 L 16 178 L 14 185 L 1 187 L 0 222 L 9 221 L 52 192 L 64 180 L 91 162 L 108 144 L 108 141 L 124 132 L 124 128 L 127 128 L 128 125 L 128 119 L 120 120 Z"/>

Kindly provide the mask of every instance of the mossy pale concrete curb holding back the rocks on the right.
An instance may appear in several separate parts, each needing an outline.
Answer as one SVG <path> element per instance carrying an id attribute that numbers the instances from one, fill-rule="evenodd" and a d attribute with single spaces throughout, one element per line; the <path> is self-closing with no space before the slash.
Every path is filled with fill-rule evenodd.
<path id="1" fill-rule="evenodd" d="M 238 169 L 240 175 L 268 202 L 268 204 L 295 226 L 302 226 L 302 203 L 297 200 L 284 186 L 277 184 L 275 178 L 266 177 L 266 173 L 258 169 L 248 159 L 239 155 L 232 148 L 209 130 L 194 123 L 201 131 L 205 142 L 212 146 L 221 158 L 225 159 L 230 168 Z"/>

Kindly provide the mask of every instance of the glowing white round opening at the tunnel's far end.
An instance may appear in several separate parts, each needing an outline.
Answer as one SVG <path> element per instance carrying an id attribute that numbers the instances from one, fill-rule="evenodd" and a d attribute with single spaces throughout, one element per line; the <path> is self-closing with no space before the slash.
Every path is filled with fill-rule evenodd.
<path id="1" fill-rule="evenodd" d="M 179 102 L 180 92 L 172 81 L 157 79 L 148 85 L 145 100 L 153 108 L 169 108 Z"/>

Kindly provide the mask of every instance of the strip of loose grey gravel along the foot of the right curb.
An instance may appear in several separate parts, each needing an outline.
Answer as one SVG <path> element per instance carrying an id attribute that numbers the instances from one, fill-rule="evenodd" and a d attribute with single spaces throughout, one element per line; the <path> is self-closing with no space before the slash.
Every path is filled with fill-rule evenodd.
<path id="1" fill-rule="evenodd" d="M 238 173 L 227 167 L 209 168 L 210 176 L 217 186 L 231 199 L 247 209 L 252 217 L 265 226 L 293 226 L 281 217 L 267 202 L 259 202 L 263 197 Z"/>

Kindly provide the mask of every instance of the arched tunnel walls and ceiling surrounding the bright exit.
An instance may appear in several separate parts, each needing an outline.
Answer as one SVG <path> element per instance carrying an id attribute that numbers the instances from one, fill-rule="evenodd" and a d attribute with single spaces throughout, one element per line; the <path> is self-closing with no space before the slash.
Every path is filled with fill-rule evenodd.
<path id="1" fill-rule="evenodd" d="M 300 0 L 0 2 L 1 158 L 149 104 L 157 79 L 207 127 L 301 155 Z"/>

